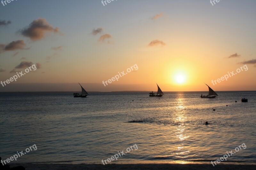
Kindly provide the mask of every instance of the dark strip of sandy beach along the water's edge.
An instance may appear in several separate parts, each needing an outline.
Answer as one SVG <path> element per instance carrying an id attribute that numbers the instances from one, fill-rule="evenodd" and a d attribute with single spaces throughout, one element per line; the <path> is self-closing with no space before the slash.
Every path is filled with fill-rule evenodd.
<path id="1" fill-rule="evenodd" d="M 77 169 L 256 169 L 256 165 L 237 164 L 12 164 L 14 166 L 24 166 L 26 170 L 77 170 Z"/>

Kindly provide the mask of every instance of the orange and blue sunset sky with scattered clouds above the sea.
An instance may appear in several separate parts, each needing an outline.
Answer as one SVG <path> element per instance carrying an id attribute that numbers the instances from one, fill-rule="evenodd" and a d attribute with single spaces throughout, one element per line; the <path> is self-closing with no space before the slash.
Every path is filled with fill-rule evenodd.
<path id="1" fill-rule="evenodd" d="M 256 1 L 103 4 L 0 4 L 0 92 L 256 90 Z"/>

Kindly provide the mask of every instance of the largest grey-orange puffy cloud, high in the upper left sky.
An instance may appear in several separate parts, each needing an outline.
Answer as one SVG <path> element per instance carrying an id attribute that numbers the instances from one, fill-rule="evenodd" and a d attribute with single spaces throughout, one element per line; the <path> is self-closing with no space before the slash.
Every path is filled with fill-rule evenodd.
<path id="1" fill-rule="evenodd" d="M 38 18 L 29 24 L 29 26 L 19 31 L 23 36 L 32 41 L 42 40 L 46 33 L 60 33 L 59 27 L 54 28 L 45 18 Z"/>

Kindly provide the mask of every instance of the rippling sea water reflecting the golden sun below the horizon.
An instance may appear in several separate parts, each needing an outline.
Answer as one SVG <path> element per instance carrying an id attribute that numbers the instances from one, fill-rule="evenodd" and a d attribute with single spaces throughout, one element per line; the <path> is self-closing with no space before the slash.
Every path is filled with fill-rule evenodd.
<path id="1" fill-rule="evenodd" d="M 37 150 L 12 163 L 102 164 L 136 144 L 137 150 L 111 163 L 198 163 L 244 143 L 246 149 L 227 161 L 256 162 L 256 92 L 217 92 L 214 99 L 201 99 L 201 93 L 165 92 L 158 98 L 91 92 L 74 98 L 73 92 L 2 92 L 0 156 L 36 144 Z M 244 97 L 248 103 L 241 102 Z"/>

